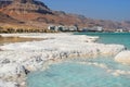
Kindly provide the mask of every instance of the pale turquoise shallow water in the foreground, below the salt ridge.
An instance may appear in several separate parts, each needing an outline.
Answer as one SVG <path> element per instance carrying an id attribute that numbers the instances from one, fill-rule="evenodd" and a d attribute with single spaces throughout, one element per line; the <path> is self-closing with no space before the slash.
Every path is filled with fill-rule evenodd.
<path id="1" fill-rule="evenodd" d="M 52 65 L 28 79 L 28 87 L 130 87 L 130 76 L 114 76 L 103 69 L 76 63 Z"/>

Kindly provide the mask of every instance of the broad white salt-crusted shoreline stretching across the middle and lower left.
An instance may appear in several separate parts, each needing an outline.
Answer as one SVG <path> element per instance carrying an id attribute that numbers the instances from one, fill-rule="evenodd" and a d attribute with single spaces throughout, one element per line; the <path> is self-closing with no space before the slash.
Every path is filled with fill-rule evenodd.
<path id="1" fill-rule="evenodd" d="M 116 55 L 121 45 L 96 44 L 99 37 L 72 34 L 1 34 L 3 37 L 48 38 L 41 41 L 15 42 L 0 46 L 0 82 L 12 87 L 25 87 L 26 74 L 43 69 L 46 61 L 74 57 L 95 58 Z M 14 83 L 15 85 L 14 85 Z M 18 85 L 16 85 L 16 83 Z M 0 86 L 2 86 L 0 84 Z M 10 86 L 3 86 L 10 87 Z"/>

